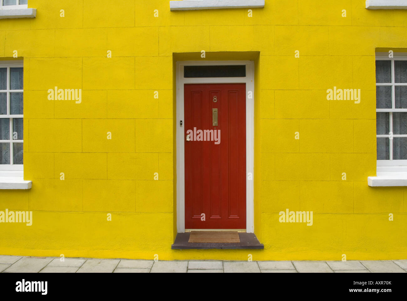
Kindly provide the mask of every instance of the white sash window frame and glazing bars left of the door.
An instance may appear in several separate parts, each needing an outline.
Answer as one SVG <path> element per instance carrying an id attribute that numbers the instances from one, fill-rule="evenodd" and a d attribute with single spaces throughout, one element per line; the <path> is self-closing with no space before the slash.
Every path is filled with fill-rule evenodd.
<path id="1" fill-rule="evenodd" d="M 0 115 L 1 119 L 10 120 L 10 138 L 12 138 L 13 128 L 13 118 L 23 118 L 24 115 L 11 115 L 10 114 L 10 93 L 24 93 L 23 90 L 11 90 L 10 89 L 10 68 L 24 68 L 22 61 L 0 61 L 0 68 L 7 68 L 7 90 L 0 90 L 0 93 L 7 93 L 7 115 Z M 23 71 L 24 72 L 24 71 Z M 24 102 L 24 98 L 23 98 Z M 10 143 L 10 164 L 0 164 L 0 176 L 6 174 L 7 171 L 14 170 L 24 170 L 24 164 L 13 164 L 13 143 L 23 143 L 24 147 L 24 138 L 23 140 L 0 140 L 0 143 Z M 3 173 L 3 171 L 5 173 Z M 9 174 L 9 173 L 7 173 Z"/>

